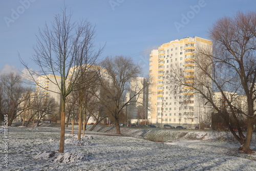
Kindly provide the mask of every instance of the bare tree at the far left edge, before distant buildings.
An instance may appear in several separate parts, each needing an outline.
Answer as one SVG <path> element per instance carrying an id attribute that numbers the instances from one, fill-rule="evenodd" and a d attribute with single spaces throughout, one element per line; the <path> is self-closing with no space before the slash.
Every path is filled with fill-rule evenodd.
<path id="1" fill-rule="evenodd" d="M 31 96 L 31 89 L 22 86 L 22 78 L 19 75 L 10 73 L 8 75 L 1 75 L 1 113 L 8 115 L 8 126 L 11 126 L 17 116 L 22 115 L 25 111 L 30 109 L 27 105 Z"/>

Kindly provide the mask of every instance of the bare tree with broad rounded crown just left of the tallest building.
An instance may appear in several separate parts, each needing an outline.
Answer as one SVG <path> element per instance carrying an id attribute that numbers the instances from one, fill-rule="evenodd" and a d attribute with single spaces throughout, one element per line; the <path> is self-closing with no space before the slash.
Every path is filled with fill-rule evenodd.
<path id="1" fill-rule="evenodd" d="M 109 116 L 115 121 L 116 134 L 120 133 L 119 117 L 127 104 L 137 100 L 133 97 L 143 93 L 145 86 L 125 100 L 125 94 L 130 91 L 129 82 L 140 74 L 140 68 L 131 58 L 124 56 L 106 57 L 102 67 L 108 72 L 109 80 L 101 79 L 102 89 L 108 97 L 103 104 Z"/>

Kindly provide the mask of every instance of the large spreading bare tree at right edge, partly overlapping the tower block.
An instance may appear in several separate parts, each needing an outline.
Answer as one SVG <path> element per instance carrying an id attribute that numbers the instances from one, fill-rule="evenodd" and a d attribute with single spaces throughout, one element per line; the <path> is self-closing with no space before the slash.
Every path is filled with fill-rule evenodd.
<path id="1" fill-rule="evenodd" d="M 177 84 L 192 88 L 195 94 L 199 93 L 210 103 L 240 142 L 239 149 L 245 153 L 252 153 L 250 142 L 256 117 L 255 23 L 255 12 L 238 12 L 233 18 L 219 19 L 209 30 L 214 42 L 212 52 L 209 47 L 197 47 L 197 54 L 193 59 L 197 73 L 194 80 L 185 80 L 183 72 L 173 73 L 171 79 Z M 225 108 L 216 101 L 216 92 L 221 93 Z M 238 105 L 241 96 L 246 99 L 246 108 Z M 246 119 L 246 135 L 241 129 L 241 118 Z M 238 128 L 238 133 L 234 132 L 233 127 Z"/>

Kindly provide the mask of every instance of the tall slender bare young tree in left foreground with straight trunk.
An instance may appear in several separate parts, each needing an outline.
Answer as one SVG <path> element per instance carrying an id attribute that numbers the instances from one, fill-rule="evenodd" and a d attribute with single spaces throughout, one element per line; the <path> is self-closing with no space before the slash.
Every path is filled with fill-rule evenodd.
<path id="1" fill-rule="evenodd" d="M 80 81 L 82 73 L 94 64 L 103 50 L 99 48 L 98 51 L 94 51 L 95 27 L 87 20 L 72 22 L 71 16 L 66 13 L 64 7 L 61 15 L 55 15 L 51 27 L 46 24 L 43 30 L 39 29 L 32 59 L 40 68 L 39 74 L 22 61 L 30 75 L 47 77 L 48 74 L 53 74 L 55 77 L 55 80 L 50 79 L 50 81 L 56 84 L 58 87 L 56 93 L 61 96 L 60 153 L 63 153 L 65 143 L 66 98 L 77 85 L 83 83 Z M 56 80 L 57 76 L 60 76 L 60 83 Z M 38 82 L 36 84 L 45 89 Z"/>

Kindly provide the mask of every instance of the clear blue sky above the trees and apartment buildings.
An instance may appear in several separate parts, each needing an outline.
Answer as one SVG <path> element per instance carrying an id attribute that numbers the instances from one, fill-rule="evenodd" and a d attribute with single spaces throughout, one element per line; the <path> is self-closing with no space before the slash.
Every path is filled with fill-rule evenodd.
<path id="1" fill-rule="evenodd" d="M 186 36 L 208 38 L 208 29 L 223 16 L 255 11 L 255 0 L 77 0 L 65 1 L 72 19 L 96 25 L 95 45 L 106 47 L 101 58 L 132 57 L 147 75 L 152 49 Z M 18 53 L 30 60 L 38 28 L 53 21 L 63 0 L 0 0 L 0 74 L 23 70 Z M 18 15 L 15 15 L 18 14 Z"/>

